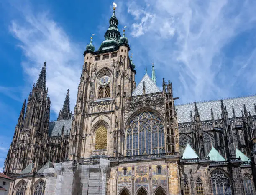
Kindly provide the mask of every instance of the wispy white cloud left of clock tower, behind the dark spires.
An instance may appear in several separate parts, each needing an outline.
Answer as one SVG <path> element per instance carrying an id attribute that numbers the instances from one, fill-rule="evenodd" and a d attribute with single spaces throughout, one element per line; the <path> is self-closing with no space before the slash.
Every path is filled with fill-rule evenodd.
<path id="1" fill-rule="evenodd" d="M 83 58 L 80 57 L 82 48 L 48 15 L 47 12 L 35 15 L 23 11 L 23 18 L 13 20 L 9 30 L 20 41 L 18 46 L 26 57 L 22 66 L 30 85 L 36 82 L 43 62 L 47 62 L 46 85 L 51 109 L 57 114 L 67 88 L 70 89 L 71 108 L 74 108 Z"/>

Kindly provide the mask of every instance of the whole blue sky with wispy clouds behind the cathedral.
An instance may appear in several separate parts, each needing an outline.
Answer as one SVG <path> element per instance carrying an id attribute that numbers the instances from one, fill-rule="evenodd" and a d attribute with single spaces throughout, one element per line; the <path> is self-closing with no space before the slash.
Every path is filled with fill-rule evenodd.
<path id="1" fill-rule="evenodd" d="M 84 49 L 91 34 L 96 48 L 104 40 L 112 2 L 0 0 L 0 167 L 44 61 L 51 120 L 67 88 L 74 108 Z M 137 83 L 154 59 L 158 86 L 170 80 L 177 103 L 256 93 L 255 0 L 115 2 Z"/>

